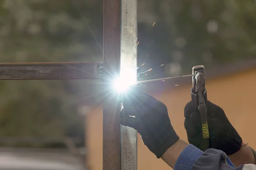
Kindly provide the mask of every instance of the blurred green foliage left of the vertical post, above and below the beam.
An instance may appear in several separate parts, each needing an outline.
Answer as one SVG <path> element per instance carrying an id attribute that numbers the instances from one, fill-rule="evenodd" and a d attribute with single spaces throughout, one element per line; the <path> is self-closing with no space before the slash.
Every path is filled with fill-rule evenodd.
<path id="1" fill-rule="evenodd" d="M 97 0 L 1 0 L 0 62 L 101 61 L 102 22 L 98 27 L 89 20 L 91 14 L 102 17 L 89 10 L 96 5 Z M 0 137 L 84 139 L 76 103 L 88 94 L 80 89 L 84 81 L 3 81 L 0 87 Z"/>

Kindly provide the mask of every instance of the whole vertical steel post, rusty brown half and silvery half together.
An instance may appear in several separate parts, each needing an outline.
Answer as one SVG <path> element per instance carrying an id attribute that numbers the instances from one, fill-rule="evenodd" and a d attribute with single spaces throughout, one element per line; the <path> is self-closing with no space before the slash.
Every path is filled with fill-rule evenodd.
<path id="1" fill-rule="evenodd" d="M 103 13 L 104 78 L 136 82 L 137 0 L 104 0 Z M 120 127 L 120 107 L 104 105 L 103 170 L 137 170 L 137 131 Z"/>

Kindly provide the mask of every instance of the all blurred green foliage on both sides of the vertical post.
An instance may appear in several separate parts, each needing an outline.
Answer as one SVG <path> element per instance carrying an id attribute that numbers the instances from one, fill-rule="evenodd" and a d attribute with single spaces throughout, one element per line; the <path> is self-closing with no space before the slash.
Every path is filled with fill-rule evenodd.
<path id="1" fill-rule="evenodd" d="M 253 0 L 138 0 L 139 63 L 175 75 L 254 57 L 255 27 Z M 98 62 L 102 42 L 102 0 L 0 0 L 0 62 Z M 97 83 L 0 82 L 0 137 L 83 138 L 77 108 Z"/>

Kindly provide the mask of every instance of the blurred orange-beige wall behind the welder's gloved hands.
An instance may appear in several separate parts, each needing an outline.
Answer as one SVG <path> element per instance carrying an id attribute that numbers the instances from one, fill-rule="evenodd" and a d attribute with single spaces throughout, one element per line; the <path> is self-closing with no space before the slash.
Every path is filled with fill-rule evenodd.
<path id="1" fill-rule="evenodd" d="M 207 95 L 211 102 L 224 109 L 230 122 L 244 142 L 256 148 L 254 124 L 256 121 L 256 69 L 228 77 L 207 79 Z M 164 102 L 175 131 L 186 139 L 183 127 L 183 109 L 191 99 L 189 85 L 170 87 L 153 96 Z M 102 170 L 102 108 L 96 108 L 87 117 L 88 164 L 91 170 Z M 157 159 L 138 138 L 138 170 L 170 170 L 165 162 Z"/>

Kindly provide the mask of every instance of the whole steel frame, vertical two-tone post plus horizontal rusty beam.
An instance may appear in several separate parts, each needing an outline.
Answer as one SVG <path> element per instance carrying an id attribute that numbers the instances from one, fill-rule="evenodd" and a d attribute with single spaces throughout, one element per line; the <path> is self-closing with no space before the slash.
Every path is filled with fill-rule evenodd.
<path id="1" fill-rule="evenodd" d="M 120 62 L 122 68 L 128 62 L 128 68 L 136 73 L 137 0 L 103 0 L 103 4 L 104 66 L 101 62 L 0 63 L 0 80 L 101 79 L 104 67 L 103 78 L 110 81 L 120 76 Z M 127 30 L 131 31 L 131 36 Z M 121 48 L 121 43 L 125 48 Z M 125 71 L 122 73 L 125 76 Z M 137 131 L 121 128 L 120 108 L 120 103 L 115 101 L 104 104 L 103 170 L 137 170 Z"/>

